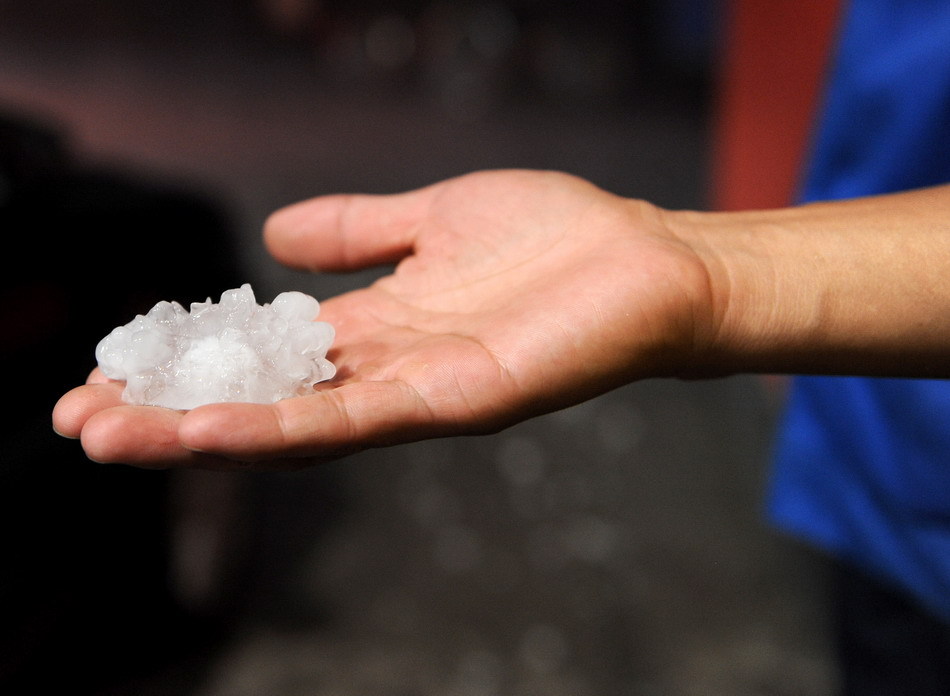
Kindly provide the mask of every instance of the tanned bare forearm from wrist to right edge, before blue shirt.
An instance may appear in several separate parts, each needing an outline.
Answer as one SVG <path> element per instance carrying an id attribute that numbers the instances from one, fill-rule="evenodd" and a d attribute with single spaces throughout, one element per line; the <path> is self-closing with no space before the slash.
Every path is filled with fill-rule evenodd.
<path id="1" fill-rule="evenodd" d="M 702 372 L 950 377 L 950 186 L 670 221 L 709 270 Z"/>

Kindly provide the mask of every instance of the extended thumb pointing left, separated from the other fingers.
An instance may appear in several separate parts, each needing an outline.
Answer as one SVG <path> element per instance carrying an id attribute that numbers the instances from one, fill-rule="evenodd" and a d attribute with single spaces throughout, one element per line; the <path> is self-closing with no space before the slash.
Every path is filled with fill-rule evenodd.
<path id="1" fill-rule="evenodd" d="M 283 264 L 348 271 L 393 263 L 412 249 L 429 190 L 314 198 L 273 213 L 264 242 Z"/>

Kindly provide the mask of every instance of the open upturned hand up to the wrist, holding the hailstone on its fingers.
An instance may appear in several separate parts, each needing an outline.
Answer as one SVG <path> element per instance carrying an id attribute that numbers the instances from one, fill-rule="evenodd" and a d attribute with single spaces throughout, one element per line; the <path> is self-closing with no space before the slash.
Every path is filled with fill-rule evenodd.
<path id="1" fill-rule="evenodd" d="M 707 269 L 667 213 L 557 173 L 483 172 L 275 213 L 274 256 L 313 270 L 398 262 L 322 303 L 332 382 L 272 405 L 121 402 L 94 372 L 56 430 L 139 466 L 302 466 L 368 447 L 497 431 L 645 376 L 709 334 Z M 310 458 L 306 461 L 301 458 Z"/>

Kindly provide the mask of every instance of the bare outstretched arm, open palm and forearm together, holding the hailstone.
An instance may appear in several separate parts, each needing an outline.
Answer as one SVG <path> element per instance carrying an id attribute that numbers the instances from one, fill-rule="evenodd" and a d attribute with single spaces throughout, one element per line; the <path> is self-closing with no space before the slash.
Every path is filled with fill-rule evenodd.
<path id="1" fill-rule="evenodd" d="M 503 171 L 313 199 L 268 220 L 279 261 L 397 263 L 322 303 L 337 378 L 273 405 L 177 412 L 124 405 L 94 371 L 54 428 L 100 462 L 294 468 L 494 432 L 645 377 L 940 372 L 948 192 L 674 213 L 565 174 Z"/>

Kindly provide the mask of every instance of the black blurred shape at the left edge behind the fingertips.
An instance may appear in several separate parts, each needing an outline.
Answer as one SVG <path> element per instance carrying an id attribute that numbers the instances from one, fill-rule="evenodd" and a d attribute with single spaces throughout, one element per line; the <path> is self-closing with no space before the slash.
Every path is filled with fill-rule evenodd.
<path id="1" fill-rule="evenodd" d="M 0 693 L 136 693 L 214 622 L 169 588 L 167 472 L 88 461 L 50 412 L 114 326 L 239 284 L 228 225 L 201 195 L 83 166 L 55 131 L 0 115 L 0 230 Z"/>

